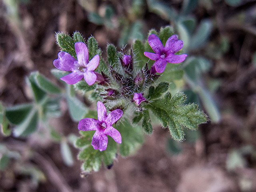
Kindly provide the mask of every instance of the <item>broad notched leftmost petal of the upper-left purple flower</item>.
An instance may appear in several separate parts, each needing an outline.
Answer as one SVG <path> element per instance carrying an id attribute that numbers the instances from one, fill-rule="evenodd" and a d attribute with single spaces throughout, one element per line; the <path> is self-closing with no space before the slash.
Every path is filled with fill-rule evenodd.
<path id="1" fill-rule="evenodd" d="M 77 67 L 75 63 L 77 60 L 72 57 L 69 53 L 61 51 L 58 53 L 58 59 L 53 61 L 53 65 L 63 71 L 74 71 Z"/>

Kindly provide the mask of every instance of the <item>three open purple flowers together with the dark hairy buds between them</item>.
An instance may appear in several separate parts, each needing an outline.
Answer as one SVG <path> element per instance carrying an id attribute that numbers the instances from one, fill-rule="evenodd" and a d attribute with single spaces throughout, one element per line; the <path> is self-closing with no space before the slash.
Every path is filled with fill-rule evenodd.
<path id="1" fill-rule="evenodd" d="M 148 36 L 148 43 L 151 46 L 152 52 L 144 52 L 144 55 L 151 60 L 155 60 L 154 64 L 150 69 L 148 65 L 135 74 L 133 67 L 133 54 L 132 50 L 130 55 L 124 54 L 120 57 L 120 66 L 124 71 L 124 74 L 117 73 L 112 67 L 109 68 L 109 72 L 113 79 L 120 85 L 120 89 L 112 88 L 108 83 L 108 77 L 101 72 L 95 72 L 94 70 L 98 67 L 100 56 L 96 54 L 90 61 L 88 60 L 88 48 L 83 42 L 76 42 L 74 44 L 77 60 L 69 53 L 61 51 L 58 53 L 58 59 L 54 60 L 53 64 L 56 68 L 64 71 L 71 72 L 70 74 L 60 78 L 67 84 L 75 84 L 80 81 L 83 77 L 88 85 L 92 85 L 98 82 L 99 85 L 108 86 L 104 89 L 107 93 L 100 94 L 105 96 L 105 101 L 117 100 L 120 97 L 134 102 L 135 105 L 142 109 L 140 105 L 143 102 L 148 103 L 144 98 L 144 93 L 140 92 L 142 87 L 145 85 L 146 77 L 152 79 L 158 78 L 156 72 L 162 73 L 168 63 L 180 63 L 185 60 L 186 54 L 176 55 L 175 53 L 180 50 L 183 46 L 182 40 L 178 40 L 176 35 L 171 36 L 163 46 L 160 39 L 155 34 Z M 131 88 L 133 87 L 133 88 Z M 130 90 L 129 90 L 130 88 Z M 120 107 L 122 109 L 122 107 Z M 115 142 L 122 143 L 122 137 L 120 132 L 112 127 L 117 120 L 119 120 L 123 114 L 122 110 L 116 107 L 112 108 L 110 113 L 106 114 L 106 107 L 100 101 L 97 102 L 98 120 L 94 118 L 84 118 L 78 123 L 78 130 L 88 131 L 95 130 L 92 136 L 92 146 L 95 150 L 106 150 L 108 144 L 108 136 L 111 136 Z"/>

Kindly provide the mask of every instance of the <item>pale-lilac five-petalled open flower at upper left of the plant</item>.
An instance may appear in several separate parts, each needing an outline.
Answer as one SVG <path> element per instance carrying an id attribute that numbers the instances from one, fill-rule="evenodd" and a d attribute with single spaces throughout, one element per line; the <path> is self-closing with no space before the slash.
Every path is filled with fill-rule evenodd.
<path id="1" fill-rule="evenodd" d="M 90 62 L 88 62 L 88 49 L 83 42 L 75 43 L 75 51 L 77 60 L 69 53 L 61 51 L 58 53 L 58 59 L 53 61 L 57 69 L 63 71 L 72 71 L 72 73 L 60 78 L 67 84 L 75 84 L 83 77 L 88 85 L 96 82 L 97 76 L 94 70 L 97 68 L 100 56 L 95 55 Z"/>

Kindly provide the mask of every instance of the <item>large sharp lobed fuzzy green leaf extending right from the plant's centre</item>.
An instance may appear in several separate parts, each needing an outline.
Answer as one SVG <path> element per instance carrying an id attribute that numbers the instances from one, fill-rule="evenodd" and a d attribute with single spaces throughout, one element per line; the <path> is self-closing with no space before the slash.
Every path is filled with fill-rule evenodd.
<path id="1" fill-rule="evenodd" d="M 183 105 L 186 96 L 177 93 L 171 96 L 167 92 L 162 99 L 154 100 L 148 108 L 156 115 L 163 127 L 168 127 L 174 140 L 181 141 L 184 138 L 182 125 L 190 129 L 196 129 L 198 124 L 205 123 L 207 116 L 198 110 L 196 104 Z"/>

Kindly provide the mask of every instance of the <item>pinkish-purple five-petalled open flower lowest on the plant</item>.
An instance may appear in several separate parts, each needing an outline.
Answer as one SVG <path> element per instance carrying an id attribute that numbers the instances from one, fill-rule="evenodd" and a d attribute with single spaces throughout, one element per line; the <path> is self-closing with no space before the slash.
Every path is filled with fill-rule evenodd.
<path id="1" fill-rule="evenodd" d="M 84 118 L 79 121 L 78 129 L 82 131 L 95 130 L 92 136 L 92 146 L 95 150 L 106 150 L 108 145 L 108 136 L 111 136 L 115 142 L 122 143 L 121 134 L 112 127 L 122 116 L 123 112 L 120 109 L 113 110 L 107 115 L 106 107 L 100 101 L 97 102 L 98 120 L 93 118 Z"/>

